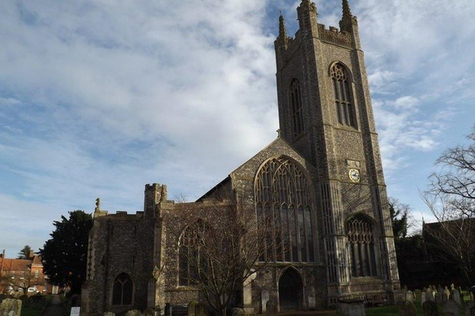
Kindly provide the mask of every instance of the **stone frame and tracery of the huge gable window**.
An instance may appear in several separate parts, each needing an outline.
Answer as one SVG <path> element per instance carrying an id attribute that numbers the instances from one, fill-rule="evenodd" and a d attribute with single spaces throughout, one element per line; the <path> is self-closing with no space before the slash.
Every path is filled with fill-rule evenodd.
<path id="1" fill-rule="evenodd" d="M 261 175 L 261 171 L 263 170 L 263 168 L 266 167 L 267 164 L 269 164 L 270 161 L 272 160 L 276 160 L 276 159 L 285 159 L 289 162 L 291 162 L 296 168 L 298 168 L 298 170 L 301 172 L 301 175 L 299 175 L 302 179 L 304 179 L 306 181 L 306 186 L 308 188 L 308 192 L 306 193 L 306 202 L 308 204 L 305 204 L 303 205 L 303 203 L 299 203 L 299 202 L 302 202 L 302 196 L 298 197 L 296 199 L 296 203 L 280 203 L 279 202 L 275 202 L 273 199 L 271 199 L 270 201 L 266 199 L 266 197 L 264 197 L 264 192 L 262 190 L 264 190 L 264 187 L 262 186 L 262 183 L 259 183 L 259 176 Z M 265 213 L 267 212 L 268 214 L 271 214 L 271 219 L 269 220 L 270 223 L 273 223 L 272 224 L 272 229 L 270 229 L 271 231 L 271 237 L 269 239 L 269 242 L 266 244 L 266 246 L 269 248 L 269 245 L 271 245 L 271 248 L 268 253 L 266 253 L 265 257 L 264 258 L 261 258 L 261 262 L 264 262 L 264 261 L 268 261 L 268 262 L 271 262 L 271 263 L 317 263 L 318 260 L 319 260 L 319 253 L 318 253 L 318 231 L 317 231 L 317 208 L 316 208 L 316 199 L 315 199 L 315 195 L 314 195 L 314 191 L 313 191 L 313 186 L 312 186 L 312 181 L 311 181 L 311 176 L 310 174 L 308 173 L 308 171 L 305 169 L 305 167 L 299 163 L 297 160 L 295 160 L 294 158 L 291 158 L 289 156 L 286 156 L 286 155 L 276 155 L 276 156 L 273 156 L 273 157 L 270 157 L 268 159 L 266 159 L 258 168 L 257 172 L 256 172 L 256 175 L 254 177 L 254 202 L 255 202 L 255 208 L 256 208 L 256 220 L 257 221 L 265 221 Z M 297 187 L 295 187 L 296 189 L 298 189 Z M 272 191 L 272 187 L 270 189 L 270 191 Z M 303 192 L 303 190 L 300 190 Z M 275 193 L 273 193 L 274 195 Z M 269 195 L 269 194 L 268 194 Z M 300 199 L 300 200 L 299 200 Z M 289 210 L 291 209 L 291 207 L 294 205 L 294 204 L 297 204 L 297 207 L 294 208 L 294 216 L 293 216 L 293 221 L 291 219 L 289 219 L 290 217 L 288 216 L 290 213 L 285 210 Z M 289 247 L 289 252 L 290 252 L 290 255 L 288 255 L 287 253 L 283 253 L 283 251 L 281 252 L 280 254 L 280 259 L 282 260 L 279 260 L 279 258 L 277 258 L 277 252 L 276 252 L 276 249 L 275 249 L 275 246 L 274 246 L 274 225 L 275 225 L 275 206 L 278 206 L 279 208 L 279 219 L 280 219 L 280 223 L 282 221 L 282 216 L 283 214 L 287 214 L 287 230 L 283 229 L 282 231 L 285 232 L 287 231 L 287 234 L 288 234 L 288 243 L 290 244 L 290 247 Z M 305 257 L 302 256 L 302 234 L 300 233 L 300 225 L 299 225 L 299 213 L 300 211 L 302 211 L 302 220 L 303 220 L 303 235 L 305 237 Z M 308 213 L 308 216 L 306 216 L 306 214 Z M 310 220 L 310 223 L 311 223 L 311 232 L 309 231 L 306 231 L 305 230 L 305 223 L 308 223 L 308 221 Z M 291 228 L 291 224 L 292 225 L 295 225 L 295 228 L 294 228 L 294 231 L 292 231 L 290 228 Z M 281 237 L 283 237 L 284 235 L 282 234 Z M 296 240 L 296 244 L 295 245 L 292 245 L 292 242 L 293 240 Z M 310 242 L 311 242 L 311 245 L 310 245 Z M 294 260 L 294 257 L 295 257 L 295 253 L 292 249 L 292 246 L 295 246 L 296 248 L 296 257 L 297 259 Z M 272 251 L 272 252 L 271 252 Z M 272 256 L 272 259 L 270 260 L 267 260 L 268 256 Z M 288 260 L 288 258 L 290 257 L 290 260 Z"/>

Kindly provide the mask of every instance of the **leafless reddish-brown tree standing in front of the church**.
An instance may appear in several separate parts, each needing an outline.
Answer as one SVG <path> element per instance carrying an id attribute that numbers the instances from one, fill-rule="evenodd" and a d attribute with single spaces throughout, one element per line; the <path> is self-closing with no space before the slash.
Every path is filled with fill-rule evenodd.
<path id="1" fill-rule="evenodd" d="M 270 218 L 258 222 L 255 210 L 237 205 L 194 207 L 178 222 L 172 233 L 180 243 L 180 273 L 222 316 L 243 285 L 267 266 L 266 253 L 286 251 L 282 239 L 275 238 L 281 228 L 274 228 Z"/>

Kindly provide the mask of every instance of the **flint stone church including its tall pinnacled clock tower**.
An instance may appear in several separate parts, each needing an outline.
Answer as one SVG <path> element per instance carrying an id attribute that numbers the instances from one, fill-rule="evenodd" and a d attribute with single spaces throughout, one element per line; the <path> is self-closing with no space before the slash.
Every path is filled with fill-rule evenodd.
<path id="1" fill-rule="evenodd" d="M 179 269 L 173 214 L 241 201 L 288 227 L 290 251 L 243 284 L 246 314 L 331 308 L 340 299 L 392 303 L 400 293 L 386 185 L 358 20 L 343 0 L 340 28 L 319 24 L 302 0 L 299 29 L 275 39 L 278 137 L 196 202 L 145 187 L 144 211 L 94 211 L 81 312 L 122 314 L 202 301 Z"/>

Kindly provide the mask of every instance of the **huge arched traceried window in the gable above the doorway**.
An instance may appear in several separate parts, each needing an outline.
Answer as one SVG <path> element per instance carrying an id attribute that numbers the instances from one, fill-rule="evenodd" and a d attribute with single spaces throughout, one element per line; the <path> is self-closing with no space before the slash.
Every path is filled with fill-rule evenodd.
<path id="1" fill-rule="evenodd" d="M 267 161 L 256 176 L 256 214 L 270 224 L 261 261 L 313 262 L 313 203 L 310 180 L 290 158 Z"/>

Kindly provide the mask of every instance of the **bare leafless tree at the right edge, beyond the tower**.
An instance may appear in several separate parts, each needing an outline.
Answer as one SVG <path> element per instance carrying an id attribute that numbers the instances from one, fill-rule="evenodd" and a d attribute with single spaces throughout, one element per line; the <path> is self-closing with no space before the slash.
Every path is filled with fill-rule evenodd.
<path id="1" fill-rule="evenodd" d="M 437 219 L 425 231 L 440 250 L 440 258 L 457 264 L 469 282 L 475 281 L 475 130 L 469 143 L 449 148 L 437 160 L 440 170 L 429 177 L 423 200 Z"/>

